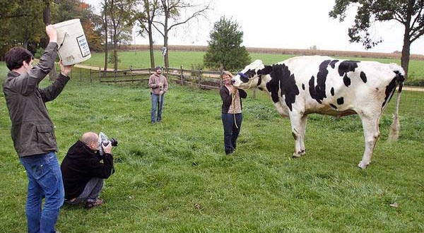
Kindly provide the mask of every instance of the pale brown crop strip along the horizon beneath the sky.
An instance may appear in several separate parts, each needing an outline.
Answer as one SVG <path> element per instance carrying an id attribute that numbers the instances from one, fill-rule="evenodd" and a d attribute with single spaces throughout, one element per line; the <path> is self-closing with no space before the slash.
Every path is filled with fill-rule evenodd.
<path id="1" fill-rule="evenodd" d="M 162 49 L 161 45 L 154 45 L 155 50 Z M 128 44 L 119 47 L 122 50 L 148 50 L 148 44 Z M 206 52 L 207 46 L 203 45 L 169 45 L 170 51 L 194 51 Z M 401 52 L 382 53 L 382 52 L 351 52 L 320 49 L 271 49 L 246 47 L 247 52 L 259 54 L 294 54 L 294 55 L 323 55 L 323 56 L 347 56 L 347 57 L 370 57 L 377 59 L 401 59 Z M 411 54 L 413 60 L 424 60 L 424 55 Z"/>

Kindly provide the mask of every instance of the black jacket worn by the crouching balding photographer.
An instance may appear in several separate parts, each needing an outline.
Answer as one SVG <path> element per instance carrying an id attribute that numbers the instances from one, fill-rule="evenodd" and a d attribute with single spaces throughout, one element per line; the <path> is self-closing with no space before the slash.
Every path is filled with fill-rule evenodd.
<path id="1" fill-rule="evenodd" d="M 70 200 L 83 192 L 91 178 L 109 178 L 114 172 L 113 157 L 107 153 L 99 155 L 88 145 L 77 141 L 69 148 L 60 169 L 64 180 L 65 198 Z"/>

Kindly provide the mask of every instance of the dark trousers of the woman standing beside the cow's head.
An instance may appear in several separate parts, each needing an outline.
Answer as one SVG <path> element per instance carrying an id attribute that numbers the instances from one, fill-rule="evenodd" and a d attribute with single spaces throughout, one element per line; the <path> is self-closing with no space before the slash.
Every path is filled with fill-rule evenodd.
<path id="1" fill-rule="evenodd" d="M 237 138 L 242 128 L 243 115 L 241 113 L 229 114 L 223 113 L 221 118 L 223 119 L 224 126 L 224 148 L 225 154 L 232 153 L 237 144 Z"/>

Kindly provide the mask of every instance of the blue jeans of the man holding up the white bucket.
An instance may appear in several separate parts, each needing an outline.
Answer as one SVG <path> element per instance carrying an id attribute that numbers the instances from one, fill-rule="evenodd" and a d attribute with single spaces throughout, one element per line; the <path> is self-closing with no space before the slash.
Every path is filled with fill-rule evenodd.
<path id="1" fill-rule="evenodd" d="M 28 176 L 26 215 L 28 232 L 55 232 L 59 208 L 64 203 L 64 184 L 56 154 L 50 152 L 19 158 Z M 42 208 L 42 198 L 45 204 Z"/>

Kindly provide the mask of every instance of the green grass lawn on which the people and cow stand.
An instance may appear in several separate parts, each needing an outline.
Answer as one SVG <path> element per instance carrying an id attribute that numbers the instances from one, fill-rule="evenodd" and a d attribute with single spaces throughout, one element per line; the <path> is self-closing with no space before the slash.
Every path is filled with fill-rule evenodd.
<path id="1" fill-rule="evenodd" d="M 6 69 L 0 65 L 4 80 Z M 48 85 L 46 79 L 42 86 Z M 423 94 L 405 91 L 401 136 L 388 143 L 394 100 L 380 121 L 371 165 L 360 119 L 311 115 L 307 155 L 292 159 L 288 119 L 248 91 L 237 151 L 223 151 L 217 90 L 170 81 L 163 124 L 150 124 L 146 83 L 73 79 L 47 103 L 59 161 L 83 132 L 117 138 L 105 204 L 61 208 L 61 232 L 423 232 Z M 25 232 L 27 178 L 0 94 L 0 232 Z M 395 205 L 397 207 L 391 206 Z"/>

